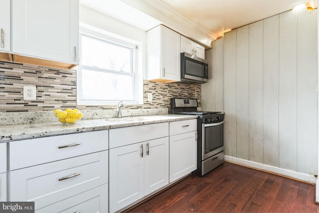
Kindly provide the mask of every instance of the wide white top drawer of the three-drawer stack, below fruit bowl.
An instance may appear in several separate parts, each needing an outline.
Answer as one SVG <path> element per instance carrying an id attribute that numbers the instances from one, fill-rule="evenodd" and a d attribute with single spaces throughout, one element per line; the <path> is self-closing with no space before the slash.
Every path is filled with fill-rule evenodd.
<path id="1" fill-rule="evenodd" d="M 10 170 L 107 149 L 108 130 L 13 141 L 10 142 Z"/>

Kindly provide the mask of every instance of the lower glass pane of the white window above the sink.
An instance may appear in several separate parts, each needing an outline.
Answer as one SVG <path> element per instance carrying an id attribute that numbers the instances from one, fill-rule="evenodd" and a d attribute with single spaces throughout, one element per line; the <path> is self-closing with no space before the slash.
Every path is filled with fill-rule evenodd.
<path id="1" fill-rule="evenodd" d="M 134 100 L 133 74 L 82 69 L 82 100 Z"/>

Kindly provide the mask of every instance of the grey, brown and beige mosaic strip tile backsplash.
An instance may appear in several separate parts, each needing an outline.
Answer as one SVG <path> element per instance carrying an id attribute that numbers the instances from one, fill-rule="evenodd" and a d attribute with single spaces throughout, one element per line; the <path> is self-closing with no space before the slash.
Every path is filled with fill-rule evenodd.
<path id="1" fill-rule="evenodd" d="M 23 100 L 23 86 L 36 86 L 36 100 Z M 148 102 L 148 93 L 153 101 Z M 170 98 L 196 98 L 200 107 L 200 85 L 144 81 L 144 104 L 124 109 L 169 108 Z M 116 105 L 77 106 L 76 70 L 0 61 L 0 112 L 51 111 L 56 108 L 114 110 Z"/>

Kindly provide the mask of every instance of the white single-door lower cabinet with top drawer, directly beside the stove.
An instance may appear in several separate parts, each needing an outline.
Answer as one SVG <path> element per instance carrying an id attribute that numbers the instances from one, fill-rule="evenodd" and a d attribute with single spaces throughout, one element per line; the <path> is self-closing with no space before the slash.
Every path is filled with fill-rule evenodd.
<path id="1" fill-rule="evenodd" d="M 169 124 L 169 134 L 178 133 L 169 136 L 169 183 L 197 169 L 196 122 L 188 120 Z"/>

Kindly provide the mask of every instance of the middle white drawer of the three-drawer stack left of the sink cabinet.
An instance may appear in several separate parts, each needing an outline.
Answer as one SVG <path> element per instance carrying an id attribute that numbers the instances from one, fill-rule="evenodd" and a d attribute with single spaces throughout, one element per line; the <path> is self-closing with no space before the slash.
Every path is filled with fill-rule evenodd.
<path id="1" fill-rule="evenodd" d="M 10 201 L 33 201 L 35 210 L 108 183 L 108 151 L 15 170 Z"/>

